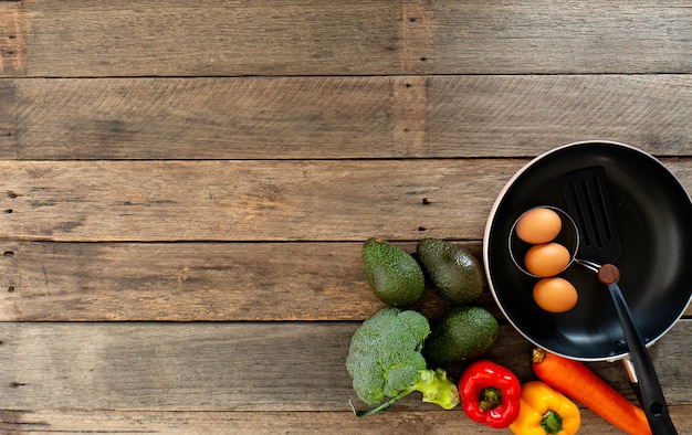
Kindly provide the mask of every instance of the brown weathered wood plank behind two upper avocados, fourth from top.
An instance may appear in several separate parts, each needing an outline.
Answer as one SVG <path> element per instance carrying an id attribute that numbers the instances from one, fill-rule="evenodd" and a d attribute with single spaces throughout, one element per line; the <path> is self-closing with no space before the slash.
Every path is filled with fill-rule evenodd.
<path id="1" fill-rule="evenodd" d="M 459 244 L 481 258 L 480 242 Z M 2 242 L 0 321 L 363 320 L 382 304 L 360 250 L 360 242 Z M 483 304 L 502 317 L 489 293 Z M 428 289 L 415 308 L 439 318 L 450 306 Z"/>

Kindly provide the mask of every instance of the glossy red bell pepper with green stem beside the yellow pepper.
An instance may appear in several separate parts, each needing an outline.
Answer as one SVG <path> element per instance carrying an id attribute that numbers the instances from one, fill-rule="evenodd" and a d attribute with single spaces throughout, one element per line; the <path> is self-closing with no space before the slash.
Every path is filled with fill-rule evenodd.
<path id="1" fill-rule="evenodd" d="M 503 428 L 518 416 L 522 385 L 507 368 L 492 361 L 471 363 L 461 374 L 459 394 L 464 413 L 476 423 Z"/>

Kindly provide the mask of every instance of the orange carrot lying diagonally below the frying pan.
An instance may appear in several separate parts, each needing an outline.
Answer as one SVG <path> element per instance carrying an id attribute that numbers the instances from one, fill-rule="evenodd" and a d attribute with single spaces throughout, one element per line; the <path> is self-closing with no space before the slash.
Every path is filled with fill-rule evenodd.
<path id="1" fill-rule="evenodd" d="M 651 434 L 643 410 L 608 385 L 579 361 L 536 349 L 533 368 L 545 383 L 581 403 L 628 434 Z"/>

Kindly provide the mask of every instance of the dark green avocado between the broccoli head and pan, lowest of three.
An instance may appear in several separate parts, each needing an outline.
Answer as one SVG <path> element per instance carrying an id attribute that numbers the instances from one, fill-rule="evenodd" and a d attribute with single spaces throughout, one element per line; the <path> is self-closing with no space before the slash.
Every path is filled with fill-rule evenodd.
<path id="1" fill-rule="evenodd" d="M 426 339 L 423 356 L 439 363 L 465 361 L 487 353 L 500 326 L 483 307 L 457 307 L 440 319 Z"/>

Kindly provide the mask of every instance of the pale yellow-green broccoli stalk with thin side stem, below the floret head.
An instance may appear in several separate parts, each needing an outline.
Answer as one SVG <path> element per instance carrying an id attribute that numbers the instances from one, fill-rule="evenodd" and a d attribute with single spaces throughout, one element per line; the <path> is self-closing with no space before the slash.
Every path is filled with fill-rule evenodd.
<path id="1" fill-rule="evenodd" d="M 447 376 L 447 372 L 442 369 L 426 369 L 420 370 L 420 380 L 418 382 L 377 407 L 367 411 L 356 411 L 353 402 L 349 401 L 350 409 L 357 417 L 379 414 L 413 391 L 419 391 L 423 394 L 423 402 L 434 403 L 445 410 L 451 410 L 459 404 L 459 390 L 452 380 Z"/>

